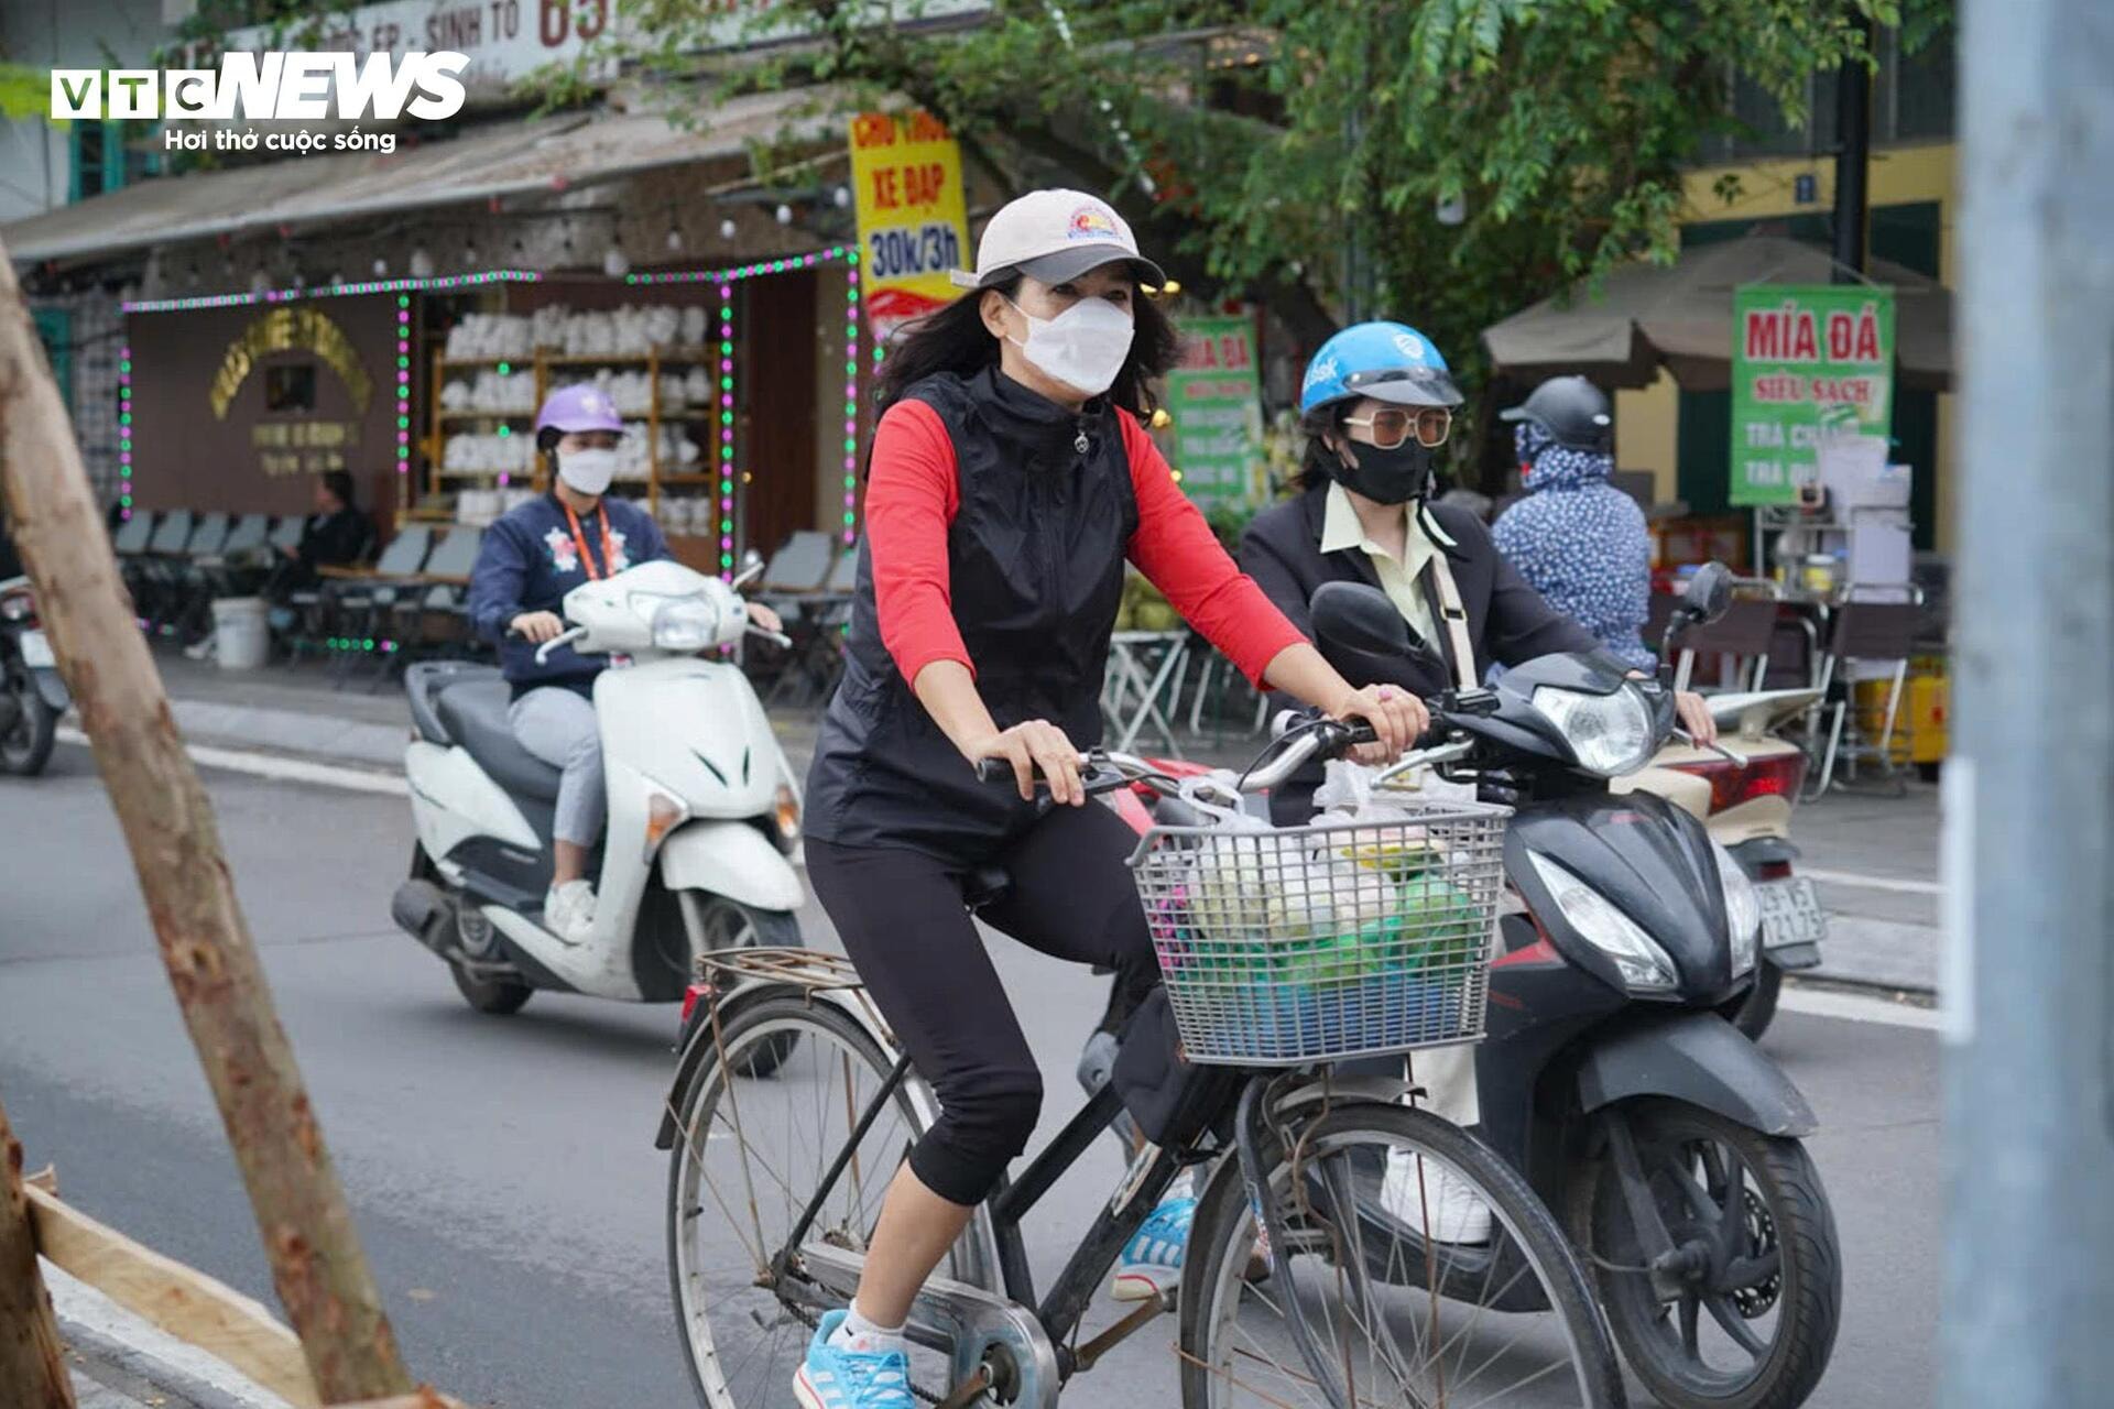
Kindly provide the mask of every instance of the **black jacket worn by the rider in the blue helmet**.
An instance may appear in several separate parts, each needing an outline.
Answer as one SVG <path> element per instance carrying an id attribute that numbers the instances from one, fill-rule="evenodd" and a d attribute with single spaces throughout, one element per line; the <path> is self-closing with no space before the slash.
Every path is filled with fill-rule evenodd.
<path id="1" fill-rule="evenodd" d="M 1328 486 L 1304 490 L 1298 499 L 1281 503 L 1256 515 L 1241 537 L 1241 568 L 1262 583 L 1262 589 L 1277 602 L 1292 623 L 1313 636 L 1306 602 L 1321 583 L 1366 583 L 1378 587 L 1380 577 L 1372 570 L 1372 560 L 1357 549 L 1336 553 L 1321 551 L 1321 524 L 1328 511 Z M 1476 649 L 1473 678 L 1482 680 L 1492 663 L 1520 665 L 1541 655 L 1566 651 L 1594 651 L 1598 640 L 1592 632 L 1571 621 L 1528 587 L 1509 562 L 1490 543 L 1490 530 L 1467 509 L 1431 505 L 1431 520 L 1454 541 L 1454 547 L 1440 545 L 1452 568 L 1454 589 L 1461 594 L 1461 608 L 1467 613 L 1467 638 Z M 1440 621 L 1440 604 L 1425 587 L 1431 619 Z M 1438 651 L 1448 668 L 1452 661 L 1452 640 L 1446 632 L 1438 640 L 1425 642 Z M 1368 680 L 1351 680 L 1368 684 Z M 1438 695 L 1454 684 L 1450 676 L 1429 680 L 1421 695 Z M 1292 703 L 1281 701 L 1281 703 Z M 1309 769 L 1277 790 L 1271 811 L 1279 822 L 1304 820 L 1311 811 L 1315 786 L 1321 769 Z"/>

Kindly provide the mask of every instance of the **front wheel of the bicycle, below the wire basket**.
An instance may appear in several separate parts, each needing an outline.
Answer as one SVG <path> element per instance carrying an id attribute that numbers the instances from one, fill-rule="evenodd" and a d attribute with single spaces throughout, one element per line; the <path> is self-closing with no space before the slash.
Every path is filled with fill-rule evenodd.
<path id="1" fill-rule="evenodd" d="M 1266 1158 L 1290 1278 L 1228 1160 L 1182 1282 L 1186 1409 L 1624 1405 L 1577 1255 L 1465 1130 L 1361 1103 L 1281 1132 Z M 1467 1242 L 1484 1232 L 1473 1202 L 1482 1242 Z"/>

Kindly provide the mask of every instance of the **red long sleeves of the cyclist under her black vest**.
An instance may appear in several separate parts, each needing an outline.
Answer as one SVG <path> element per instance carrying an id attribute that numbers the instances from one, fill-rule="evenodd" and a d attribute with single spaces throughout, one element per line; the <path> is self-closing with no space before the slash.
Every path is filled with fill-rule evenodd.
<path id="1" fill-rule="evenodd" d="M 1118 410 L 1116 420 L 1137 499 L 1129 560 L 1241 674 L 1262 684 L 1277 653 L 1306 638 L 1226 556 L 1137 418 Z M 915 682 L 932 661 L 977 670 L 953 621 L 947 583 L 947 528 L 960 505 L 953 439 L 939 412 L 924 401 L 896 401 L 873 431 L 867 541 L 882 644 L 905 682 Z"/>

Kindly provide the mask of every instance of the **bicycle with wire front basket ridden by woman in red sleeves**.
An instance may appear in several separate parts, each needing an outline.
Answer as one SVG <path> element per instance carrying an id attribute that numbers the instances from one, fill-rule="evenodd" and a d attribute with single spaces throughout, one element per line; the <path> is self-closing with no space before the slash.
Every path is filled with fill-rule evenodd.
<path id="1" fill-rule="evenodd" d="M 1313 754 L 1340 754 L 1370 737 L 1309 722 L 1243 786 L 1271 788 Z M 1448 748 L 1406 754 L 1395 769 L 1442 760 Z M 1089 792 L 1146 782 L 1165 796 L 1201 796 L 1139 758 L 1097 752 L 1089 763 Z M 1224 1069 L 1224 1096 L 1194 1141 L 1139 1149 L 1038 1299 L 1021 1219 L 1120 1113 L 1112 1086 L 1093 1094 L 977 1210 L 920 1293 L 907 1331 L 913 1392 L 941 1409 L 1053 1409 L 1074 1375 L 1177 1310 L 1188 1409 L 1624 1405 L 1586 1274 L 1528 1185 L 1459 1126 L 1406 1105 L 1406 1082 L 1330 1071 L 1332 1058 L 1480 1035 L 1505 811 L 1463 803 L 1385 826 L 1154 828 L 1131 864 L 1184 1054 Z M 1230 870 L 1201 870 L 1226 845 Z M 1353 870 L 1359 885 L 1368 872 L 1385 875 L 1376 866 L 1389 858 L 1444 862 L 1446 883 L 1473 904 L 1452 904 L 1444 925 L 1425 917 L 1423 929 L 1395 917 L 1393 940 L 1355 951 L 1402 957 L 1416 948 L 1423 959 L 1408 970 L 1330 974 L 1325 946 L 1319 972 L 1311 946 L 1296 951 L 1306 963 L 1298 982 L 1243 978 L 1216 963 L 1213 955 L 1254 953 L 1262 942 L 1283 948 L 1258 923 L 1285 929 L 1285 917 L 1256 906 L 1268 910 L 1271 896 L 1281 904 L 1298 889 L 1292 858 L 1306 858 L 1300 864 L 1311 872 L 1317 847 L 1349 858 L 1323 872 L 1342 885 Z M 1205 875 L 1220 883 L 1230 875 L 1230 889 L 1201 894 L 1213 885 Z M 1199 894 L 1186 894 L 1188 883 Z M 975 877 L 966 902 L 989 904 L 1002 885 L 1000 875 Z M 1325 887 L 1311 875 L 1304 885 L 1319 902 Z M 1452 948 L 1433 948 L 1435 927 Z M 1338 953 L 1334 961 L 1351 959 Z M 708 982 L 693 989 L 685 1014 L 657 1139 L 670 1151 L 670 1282 L 700 1403 L 753 1409 L 791 1403 L 808 1329 L 848 1305 L 882 1194 L 937 1105 L 848 961 L 738 951 L 706 955 L 700 972 Z M 1084 1312 L 1123 1246 L 1188 1168 L 1207 1177 L 1180 1289 L 1080 1341 Z M 1429 1236 L 1425 1200 L 1446 1177 L 1490 1206 L 1488 1242 Z M 712 1215 L 725 1219 L 740 1257 L 712 1246 Z"/>

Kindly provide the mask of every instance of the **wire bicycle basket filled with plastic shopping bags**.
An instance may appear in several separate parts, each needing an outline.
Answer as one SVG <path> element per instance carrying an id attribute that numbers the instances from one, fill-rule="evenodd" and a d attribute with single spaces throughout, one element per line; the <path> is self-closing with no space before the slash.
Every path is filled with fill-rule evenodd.
<path id="1" fill-rule="evenodd" d="M 1296 1067 L 1482 1037 L 1509 807 L 1163 826 L 1131 868 L 1192 1063 Z"/>

